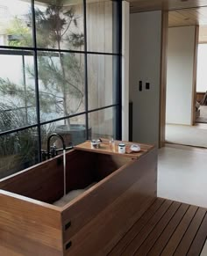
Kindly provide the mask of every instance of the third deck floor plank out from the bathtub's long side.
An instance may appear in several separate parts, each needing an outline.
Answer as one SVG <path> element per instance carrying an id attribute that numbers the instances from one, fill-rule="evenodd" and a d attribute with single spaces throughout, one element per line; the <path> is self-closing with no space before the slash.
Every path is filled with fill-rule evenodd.
<path id="1" fill-rule="evenodd" d="M 134 255 L 137 256 L 143 256 L 146 255 L 147 252 L 150 251 L 154 243 L 156 242 L 157 238 L 161 236 L 161 233 L 163 230 L 165 230 L 166 226 L 172 219 L 172 217 L 175 215 L 177 209 L 181 206 L 180 202 L 174 201 L 170 208 L 168 208 L 168 211 L 165 213 L 164 216 L 162 216 L 161 220 L 155 228 L 152 230 L 150 235 L 146 238 L 144 243 L 138 247 L 138 250 L 134 253 Z"/>

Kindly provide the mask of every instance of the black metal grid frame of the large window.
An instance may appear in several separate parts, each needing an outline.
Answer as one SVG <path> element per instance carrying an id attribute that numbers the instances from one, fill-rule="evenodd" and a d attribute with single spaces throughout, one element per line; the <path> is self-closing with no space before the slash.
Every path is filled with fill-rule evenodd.
<path id="1" fill-rule="evenodd" d="M 66 119 L 74 118 L 76 116 L 85 115 L 86 117 L 86 139 L 89 139 L 89 113 L 94 113 L 100 110 L 114 108 L 116 109 L 115 113 L 115 128 L 114 132 L 116 134 L 116 139 L 121 140 L 121 74 L 122 74 L 122 1 L 113 1 L 117 4 L 116 7 L 116 19 L 113 19 L 113 21 L 116 23 L 116 29 L 113 34 L 113 37 L 117 37 L 118 40 L 118 53 L 109 53 L 109 52 L 94 52 L 94 51 L 88 51 L 87 50 L 87 0 L 82 1 L 83 6 L 83 32 L 84 32 L 84 50 L 82 51 L 75 51 L 75 50 L 66 50 L 66 49 L 52 49 L 52 48 L 38 48 L 37 47 L 37 40 L 36 40 L 36 27 L 35 27 L 35 4 L 34 0 L 31 0 L 31 6 L 32 6 L 32 39 L 33 39 L 33 46 L 31 48 L 29 47 L 12 47 L 12 46 L 1 46 L 0 45 L 0 55 L 19 55 L 22 52 L 29 51 L 33 55 L 34 59 L 34 73 L 35 73 L 35 96 L 36 96 L 36 113 L 37 113 L 37 123 L 33 125 L 28 125 L 22 128 L 15 128 L 11 130 L 6 130 L 4 132 L 0 132 L 0 136 L 3 135 L 9 135 L 12 133 L 18 133 L 21 131 L 24 131 L 29 128 L 37 128 L 38 129 L 38 143 L 39 143 L 39 162 L 41 161 L 41 126 L 53 123 L 55 121 L 63 121 Z M 113 27 L 114 29 L 114 27 Z M 53 119 L 50 121 L 41 121 L 40 120 L 40 106 L 39 106 L 39 74 L 38 74 L 38 52 L 45 51 L 45 52 L 59 52 L 59 53 L 75 53 L 75 54 L 83 54 L 84 55 L 84 84 L 85 84 L 85 111 L 82 113 L 75 113 L 70 114 L 68 116 L 64 116 L 58 119 Z M 31 55 L 31 54 L 30 54 Z M 116 103 L 112 104 L 110 106 L 103 106 L 99 108 L 94 108 L 89 110 L 89 102 L 88 102 L 88 55 L 111 55 L 117 57 L 117 72 L 116 74 L 113 74 L 113 79 L 116 83 Z"/>

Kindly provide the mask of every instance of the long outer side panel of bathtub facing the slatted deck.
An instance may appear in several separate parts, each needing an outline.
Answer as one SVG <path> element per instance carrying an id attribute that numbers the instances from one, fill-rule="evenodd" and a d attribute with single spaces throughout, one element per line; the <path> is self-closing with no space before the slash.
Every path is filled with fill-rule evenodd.
<path id="1" fill-rule="evenodd" d="M 106 255 L 156 198 L 157 153 L 151 150 L 100 181 L 62 212 L 65 255 Z M 98 200 L 97 200 L 98 196 Z M 100 239 L 101 235 L 101 239 Z"/>

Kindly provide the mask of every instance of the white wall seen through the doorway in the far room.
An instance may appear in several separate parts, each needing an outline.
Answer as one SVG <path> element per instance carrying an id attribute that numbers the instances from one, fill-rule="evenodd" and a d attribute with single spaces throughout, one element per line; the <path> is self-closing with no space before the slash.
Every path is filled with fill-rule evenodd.
<path id="1" fill-rule="evenodd" d="M 192 123 L 195 36 L 195 26 L 168 30 L 167 123 Z"/>

